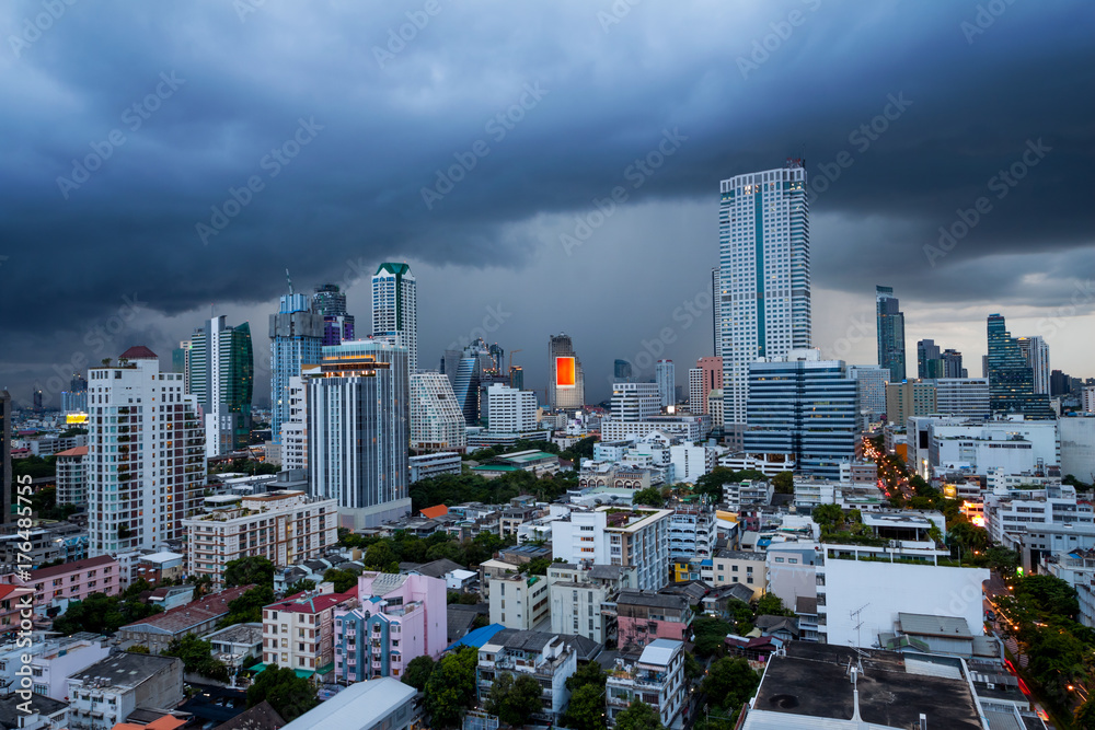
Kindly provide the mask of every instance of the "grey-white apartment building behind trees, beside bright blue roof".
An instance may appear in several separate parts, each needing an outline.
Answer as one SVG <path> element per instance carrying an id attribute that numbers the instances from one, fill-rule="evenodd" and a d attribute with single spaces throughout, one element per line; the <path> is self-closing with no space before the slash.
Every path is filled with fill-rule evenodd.
<path id="1" fill-rule="evenodd" d="M 570 700 L 566 680 L 578 669 L 577 652 L 565 637 L 545 631 L 504 628 L 480 647 L 475 688 L 482 703 L 502 674 L 529 675 L 543 688 L 541 709 L 533 720 L 557 723 Z"/>

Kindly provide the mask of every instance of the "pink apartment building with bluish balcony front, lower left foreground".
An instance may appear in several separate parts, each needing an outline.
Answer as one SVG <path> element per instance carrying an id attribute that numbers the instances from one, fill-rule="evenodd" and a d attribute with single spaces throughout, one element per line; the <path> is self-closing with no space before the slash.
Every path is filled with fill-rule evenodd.
<path id="1" fill-rule="evenodd" d="M 448 644 L 442 579 L 364 572 L 357 596 L 335 611 L 335 681 L 402 679 L 412 659 L 440 657 Z"/>

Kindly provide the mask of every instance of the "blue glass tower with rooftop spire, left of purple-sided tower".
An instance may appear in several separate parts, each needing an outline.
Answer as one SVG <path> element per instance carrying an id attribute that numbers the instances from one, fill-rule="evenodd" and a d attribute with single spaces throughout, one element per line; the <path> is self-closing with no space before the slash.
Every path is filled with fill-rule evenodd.
<path id="1" fill-rule="evenodd" d="M 270 437 L 281 441 L 281 424 L 289 420 L 289 379 L 301 367 L 323 358 L 323 315 L 312 300 L 290 290 L 270 315 Z"/>

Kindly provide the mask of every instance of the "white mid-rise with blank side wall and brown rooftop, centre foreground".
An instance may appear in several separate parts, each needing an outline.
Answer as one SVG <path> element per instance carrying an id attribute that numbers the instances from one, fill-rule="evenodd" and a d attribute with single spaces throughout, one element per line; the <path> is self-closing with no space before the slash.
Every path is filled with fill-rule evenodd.
<path id="1" fill-rule="evenodd" d="M 552 523 L 552 556 L 635 568 L 636 588 L 659 590 L 668 582 L 671 514 L 650 508 L 572 511 Z"/>

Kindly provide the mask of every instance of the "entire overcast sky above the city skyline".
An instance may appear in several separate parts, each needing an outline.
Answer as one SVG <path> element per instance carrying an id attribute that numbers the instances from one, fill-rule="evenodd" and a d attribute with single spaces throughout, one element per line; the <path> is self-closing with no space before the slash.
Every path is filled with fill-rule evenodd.
<path id="1" fill-rule="evenodd" d="M 887 285 L 912 375 L 922 337 L 980 375 L 994 312 L 1095 375 L 1091 2 L 53 0 L 0 31 L 21 403 L 135 344 L 170 362 L 211 311 L 251 323 L 266 402 L 285 269 L 348 287 L 368 334 L 383 260 L 417 277 L 420 367 L 484 327 L 542 391 L 566 332 L 589 402 L 615 358 L 687 385 L 718 181 L 788 157 L 822 352 L 876 362 Z"/>

